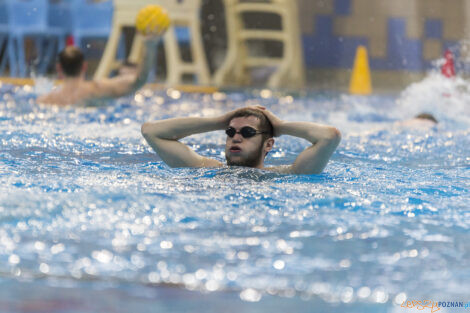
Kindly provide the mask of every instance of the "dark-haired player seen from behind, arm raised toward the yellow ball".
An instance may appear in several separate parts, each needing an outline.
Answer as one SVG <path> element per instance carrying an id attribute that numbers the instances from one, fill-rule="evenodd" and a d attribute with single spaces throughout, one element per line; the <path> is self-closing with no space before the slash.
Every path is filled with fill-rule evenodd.
<path id="1" fill-rule="evenodd" d="M 89 105 L 103 104 L 105 100 L 118 98 L 133 93 L 147 81 L 153 68 L 158 36 L 145 38 L 144 58 L 136 69 L 121 69 L 113 78 L 87 81 L 85 73 L 87 63 L 83 53 L 75 46 L 68 46 L 59 54 L 57 72 L 63 84 L 57 89 L 38 98 L 42 104 L 54 105 Z"/>

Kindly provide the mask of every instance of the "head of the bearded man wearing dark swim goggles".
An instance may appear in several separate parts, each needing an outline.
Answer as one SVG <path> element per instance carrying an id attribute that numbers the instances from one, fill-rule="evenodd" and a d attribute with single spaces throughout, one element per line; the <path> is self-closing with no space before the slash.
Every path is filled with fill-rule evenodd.
<path id="1" fill-rule="evenodd" d="M 259 110 L 238 110 L 225 131 L 227 165 L 258 167 L 274 145 L 273 126 Z"/>

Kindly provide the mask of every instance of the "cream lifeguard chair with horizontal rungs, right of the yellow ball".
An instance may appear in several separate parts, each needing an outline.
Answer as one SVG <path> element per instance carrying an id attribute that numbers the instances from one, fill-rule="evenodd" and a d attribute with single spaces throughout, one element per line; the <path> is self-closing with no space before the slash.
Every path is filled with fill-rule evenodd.
<path id="1" fill-rule="evenodd" d="M 217 86 L 250 84 L 249 70 L 259 67 L 273 67 L 267 85 L 270 88 L 302 87 L 305 71 L 300 42 L 300 26 L 295 0 L 224 0 L 228 50 L 222 66 L 214 75 Z M 281 18 L 281 29 L 249 29 L 244 25 L 243 14 L 274 13 Z M 249 40 L 279 41 L 283 45 L 282 57 L 250 56 Z"/>

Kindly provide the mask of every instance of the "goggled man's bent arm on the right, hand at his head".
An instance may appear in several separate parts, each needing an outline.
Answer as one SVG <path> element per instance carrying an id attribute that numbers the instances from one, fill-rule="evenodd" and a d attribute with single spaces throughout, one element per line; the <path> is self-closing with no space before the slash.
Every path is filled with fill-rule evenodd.
<path id="1" fill-rule="evenodd" d="M 258 109 L 273 125 L 274 136 L 290 135 L 312 143 L 285 171 L 293 174 L 319 174 L 323 171 L 341 141 L 341 133 L 338 129 L 312 122 L 286 122 L 264 107 L 258 107 Z"/>

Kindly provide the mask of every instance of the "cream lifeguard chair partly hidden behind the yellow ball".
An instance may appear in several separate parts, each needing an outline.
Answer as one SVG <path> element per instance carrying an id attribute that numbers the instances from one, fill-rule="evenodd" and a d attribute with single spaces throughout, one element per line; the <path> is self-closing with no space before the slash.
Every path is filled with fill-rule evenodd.
<path id="1" fill-rule="evenodd" d="M 113 28 L 94 78 L 105 78 L 121 65 L 121 62 L 116 60 L 116 51 L 122 30 L 124 27 L 135 27 L 137 13 L 149 4 L 157 4 L 165 8 L 171 19 L 171 25 L 163 37 L 167 63 L 166 83 L 181 84 L 183 75 L 186 74 L 197 77 L 199 84 L 209 84 L 209 69 L 199 23 L 201 0 L 114 0 Z M 181 58 L 180 46 L 175 34 L 177 26 L 188 28 L 191 62 L 183 61 Z M 133 63 L 138 62 L 142 48 L 142 37 L 136 33 L 128 60 Z"/>

